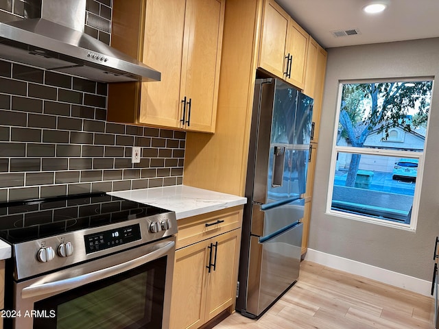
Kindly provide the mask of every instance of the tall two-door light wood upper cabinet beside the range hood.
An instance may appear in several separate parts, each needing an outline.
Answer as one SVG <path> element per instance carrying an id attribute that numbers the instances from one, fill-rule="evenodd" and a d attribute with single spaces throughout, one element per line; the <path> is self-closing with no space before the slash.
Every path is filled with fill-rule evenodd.
<path id="1" fill-rule="evenodd" d="M 140 59 L 161 72 L 161 81 L 110 84 L 108 120 L 215 132 L 225 0 L 141 3 Z M 113 29 L 118 24 L 126 23 L 113 18 Z M 112 47 L 126 43 L 119 38 Z"/>

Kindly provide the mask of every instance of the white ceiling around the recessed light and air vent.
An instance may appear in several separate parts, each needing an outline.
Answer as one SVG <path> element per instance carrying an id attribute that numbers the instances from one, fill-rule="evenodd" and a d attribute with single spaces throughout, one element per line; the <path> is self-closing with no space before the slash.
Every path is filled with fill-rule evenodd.
<path id="1" fill-rule="evenodd" d="M 276 0 L 322 47 L 433 38 L 439 36 L 439 0 L 389 0 L 379 14 L 366 14 L 368 0 Z M 370 1 L 369 1 L 370 2 Z M 335 30 L 360 34 L 335 38 Z"/>

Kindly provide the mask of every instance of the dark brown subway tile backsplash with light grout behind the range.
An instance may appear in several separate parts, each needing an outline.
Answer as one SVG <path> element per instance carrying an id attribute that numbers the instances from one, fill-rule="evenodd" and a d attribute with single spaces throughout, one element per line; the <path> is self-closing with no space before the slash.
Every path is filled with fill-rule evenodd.
<path id="1" fill-rule="evenodd" d="M 40 4 L 0 0 L 0 21 L 40 17 Z M 111 5 L 86 8 L 86 34 L 107 44 Z M 182 184 L 186 133 L 106 122 L 107 94 L 104 83 L 0 59 L 0 202 Z"/>

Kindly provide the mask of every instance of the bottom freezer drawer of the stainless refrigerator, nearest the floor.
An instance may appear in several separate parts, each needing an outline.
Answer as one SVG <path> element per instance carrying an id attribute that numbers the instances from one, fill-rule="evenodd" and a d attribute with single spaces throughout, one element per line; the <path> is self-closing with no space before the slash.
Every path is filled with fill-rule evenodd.
<path id="1" fill-rule="evenodd" d="M 299 276 L 303 224 L 259 243 L 250 238 L 246 316 L 259 317 Z"/>

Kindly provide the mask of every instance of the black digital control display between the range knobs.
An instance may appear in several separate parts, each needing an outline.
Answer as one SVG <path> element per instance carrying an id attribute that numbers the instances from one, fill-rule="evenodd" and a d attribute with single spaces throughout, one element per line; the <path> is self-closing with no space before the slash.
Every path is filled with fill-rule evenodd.
<path id="1" fill-rule="evenodd" d="M 140 239 L 140 225 L 134 224 L 84 236 L 85 250 L 86 254 L 90 254 Z"/>

